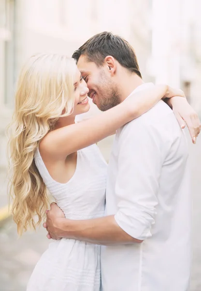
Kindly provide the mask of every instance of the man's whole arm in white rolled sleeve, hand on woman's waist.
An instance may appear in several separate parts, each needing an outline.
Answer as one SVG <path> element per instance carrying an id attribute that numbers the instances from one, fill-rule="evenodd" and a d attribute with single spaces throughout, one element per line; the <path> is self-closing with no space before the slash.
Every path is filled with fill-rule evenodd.
<path id="1" fill-rule="evenodd" d="M 161 170 L 158 137 L 149 126 L 135 121 L 124 129 L 115 187 L 117 213 L 97 219 L 75 221 L 57 219 L 54 212 L 49 211 L 47 230 L 53 238 L 65 237 L 114 245 L 142 242 L 151 236 Z"/>

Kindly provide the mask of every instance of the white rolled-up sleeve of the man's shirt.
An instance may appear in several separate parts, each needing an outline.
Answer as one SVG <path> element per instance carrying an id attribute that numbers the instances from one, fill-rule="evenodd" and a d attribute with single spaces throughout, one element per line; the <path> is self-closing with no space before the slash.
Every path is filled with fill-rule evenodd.
<path id="1" fill-rule="evenodd" d="M 115 221 L 131 237 L 144 240 L 155 223 L 162 154 L 158 132 L 135 121 L 119 137 Z"/>

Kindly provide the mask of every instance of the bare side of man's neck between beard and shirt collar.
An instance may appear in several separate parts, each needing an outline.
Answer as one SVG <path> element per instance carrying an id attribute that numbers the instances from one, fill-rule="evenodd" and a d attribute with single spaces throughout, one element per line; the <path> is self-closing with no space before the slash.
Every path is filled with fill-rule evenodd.
<path id="1" fill-rule="evenodd" d="M 144 84 L 144 81 L 137 74 L 123 74 L 123 77 L 118 82 L 121 102 L 142 84 Z"/>

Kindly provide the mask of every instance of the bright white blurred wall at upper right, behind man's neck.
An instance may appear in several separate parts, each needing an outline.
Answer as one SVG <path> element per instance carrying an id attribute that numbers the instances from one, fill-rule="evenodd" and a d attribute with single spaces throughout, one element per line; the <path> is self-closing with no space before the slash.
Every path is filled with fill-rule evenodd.
<path id="1" fill-rule="evenodd" d="M 189 102 L 201 113 L 200 12 L 200 0 L 153 0 L 148 71 L 156 82 L 184 90 Z"/>

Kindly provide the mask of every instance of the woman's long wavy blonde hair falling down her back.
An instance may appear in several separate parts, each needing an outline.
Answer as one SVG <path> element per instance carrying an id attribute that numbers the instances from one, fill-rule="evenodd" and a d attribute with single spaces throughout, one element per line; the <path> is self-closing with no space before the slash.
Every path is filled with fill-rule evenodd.
<path id="1" fill-rule="evenodd" d="M 7 130 L 9 201 L 13 200 L 12 213 L 19 235 L 29 227 L 36 229 L 49 206 L 48 191 L 34 154 L 58 118 L 72 113 L 76 69 L 75 61 L 65 55 L 35 54 L 20 72 L 14 114 Z"/>

